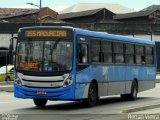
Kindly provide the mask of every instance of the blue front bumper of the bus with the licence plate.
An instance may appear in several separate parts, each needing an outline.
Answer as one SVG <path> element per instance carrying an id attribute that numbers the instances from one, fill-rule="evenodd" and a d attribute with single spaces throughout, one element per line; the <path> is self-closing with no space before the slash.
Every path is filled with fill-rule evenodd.
<path id="1" fill-rule="evenodd" d="M 19 86 L 14 83 L 14 96 L 16 98 L 46 98 L 59 100 L 73 100 L 74 90 L 71 86 L 58 88 L 31 88 Z"/>

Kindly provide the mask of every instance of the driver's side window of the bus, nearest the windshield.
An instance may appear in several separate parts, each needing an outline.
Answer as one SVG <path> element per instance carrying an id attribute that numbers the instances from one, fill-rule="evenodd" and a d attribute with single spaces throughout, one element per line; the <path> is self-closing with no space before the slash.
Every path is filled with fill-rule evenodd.
<path id="1" fill-rule="evenodd" d="M 88 63 L 87 44 L 77 45 L 77 63 Z"/>

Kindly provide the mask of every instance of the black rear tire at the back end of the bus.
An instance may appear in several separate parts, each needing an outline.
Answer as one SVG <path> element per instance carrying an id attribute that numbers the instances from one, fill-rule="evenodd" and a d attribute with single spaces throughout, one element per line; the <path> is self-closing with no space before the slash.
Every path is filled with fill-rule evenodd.
<path id="1" fill-rule="evenodd" d="M 132 82 L 131 93 L 130 94 L 121 94 L 123 100 L 136 100 L 138 93 L 138 85 L 136 81 Z"/>

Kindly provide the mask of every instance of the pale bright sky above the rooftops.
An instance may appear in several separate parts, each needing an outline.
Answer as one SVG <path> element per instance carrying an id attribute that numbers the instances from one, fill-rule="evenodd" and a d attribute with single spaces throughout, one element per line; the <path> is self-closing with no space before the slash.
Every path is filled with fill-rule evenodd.
<path id="1" fill-rule="evenodd" d="M 0 8 L 36 8 L 26 3 L 39 5 L 40 0 L 0 0 Z M 42 0 L 42 7 L 59 12 L 77 3 L 113 3 L 140 10 L 150 5 L 160 5 L 160 0 Z"/>

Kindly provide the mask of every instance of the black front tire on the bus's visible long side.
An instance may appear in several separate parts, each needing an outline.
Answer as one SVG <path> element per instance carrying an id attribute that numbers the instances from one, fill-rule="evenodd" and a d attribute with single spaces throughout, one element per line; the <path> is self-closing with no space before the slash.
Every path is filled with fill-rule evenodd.
<path id="1" fill-rule="evenodd" d="M 86 107 L 93 107 L 98 102 L 98 90 L 95 83 L 91 83 L 88 90 L 88 98 L 84 99 L 82 103 Z"/>

